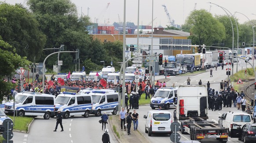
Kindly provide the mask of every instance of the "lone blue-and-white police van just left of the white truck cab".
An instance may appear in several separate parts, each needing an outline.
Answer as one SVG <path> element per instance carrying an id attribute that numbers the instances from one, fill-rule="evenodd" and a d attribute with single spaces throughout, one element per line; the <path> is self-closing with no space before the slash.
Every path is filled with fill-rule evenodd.
<path id="1" fill-rule="evenodd" d="M 156 91 L 154 97 L 150 100 L 150 107 L 152 109 L 165 108 L 169 109 L 170 106 L 174 106 L 174 101 L 177 97 L 177 87 L 162 87 Z"/>

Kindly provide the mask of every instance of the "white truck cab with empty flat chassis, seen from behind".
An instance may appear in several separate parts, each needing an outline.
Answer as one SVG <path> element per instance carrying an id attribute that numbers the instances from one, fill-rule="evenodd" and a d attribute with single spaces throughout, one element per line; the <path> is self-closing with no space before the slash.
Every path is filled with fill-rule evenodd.
<path id="1" fill-rule="evenodd" d="M 227 128 L 208 119 L 208 94 L 206 85 L 179 85 L 177 91 L 177 120 L 181 133 L 189 133 L 190 140 L 216 138 L 227 142 Z"/>

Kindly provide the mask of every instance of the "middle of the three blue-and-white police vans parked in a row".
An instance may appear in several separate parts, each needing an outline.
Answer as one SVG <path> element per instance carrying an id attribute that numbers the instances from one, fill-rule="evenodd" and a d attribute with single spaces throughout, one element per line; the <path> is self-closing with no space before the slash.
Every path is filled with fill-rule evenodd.
<path id="1" fill-rule="evenodd" d="M 83 115 L 85 118 L 88 118 L 92 107 L 91 95 L 89 93 L 63 92 L 59 94 L 55 99 L 55 111 L 60 110 L 64 119 L 68 119 L 69 115 Z"/>

